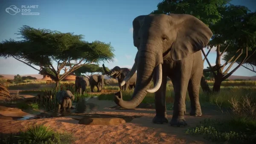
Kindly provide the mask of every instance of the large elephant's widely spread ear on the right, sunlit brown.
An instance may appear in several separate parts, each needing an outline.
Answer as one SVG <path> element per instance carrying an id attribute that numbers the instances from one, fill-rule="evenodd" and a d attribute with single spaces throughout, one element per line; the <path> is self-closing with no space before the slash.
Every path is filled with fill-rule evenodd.
<path id="1" fill-rule="evenodd" d="M 212 31 L 198 18 L 189 14 L 169 14 L 175 41 L 171 46 L 172 60 L 181 60 L 200 51 L 209 43 Z"/>

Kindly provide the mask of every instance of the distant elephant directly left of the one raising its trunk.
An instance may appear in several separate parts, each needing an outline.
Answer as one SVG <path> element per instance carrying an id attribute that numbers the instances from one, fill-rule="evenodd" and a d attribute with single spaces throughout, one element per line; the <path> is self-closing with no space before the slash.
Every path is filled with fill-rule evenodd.
<path id="1" fill-rule="evenodd" d="M 97 87 L 97 92 L 101 92 L 102 86 L 104 86 L 104 78 L 103 75 L 95 74 L 92 75 L 89 79 L 91 92 L 93 92 L 94 86 Z"/>

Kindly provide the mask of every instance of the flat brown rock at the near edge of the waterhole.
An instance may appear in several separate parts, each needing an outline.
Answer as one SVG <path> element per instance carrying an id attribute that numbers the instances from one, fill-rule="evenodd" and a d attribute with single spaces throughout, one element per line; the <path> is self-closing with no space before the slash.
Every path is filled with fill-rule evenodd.
<path id="1" fill-rule="evenodd" d="M 116 125 L 126 121 L 122 118 L 82 118 L 79 124 L 85 125 Z"/>

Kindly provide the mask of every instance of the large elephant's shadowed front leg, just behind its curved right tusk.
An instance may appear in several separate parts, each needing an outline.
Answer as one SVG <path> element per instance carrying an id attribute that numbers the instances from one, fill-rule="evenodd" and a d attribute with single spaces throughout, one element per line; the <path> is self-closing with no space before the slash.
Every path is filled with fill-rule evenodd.
<path id="1" fill-rule="evenodd" d="M 157 76 L 156 72 L 153 75 L 154 85 L 156 84 Z M 163 124 L 168 123 L 167 114 L 166 114 L 166 83 L 167 83 L 167 75 L 163 69 L 163 77 L 162 84 L 160 88 L 155 92 L 155 109 L 156 115 L 153 118 L 153 123 L 155 124 Z"/>

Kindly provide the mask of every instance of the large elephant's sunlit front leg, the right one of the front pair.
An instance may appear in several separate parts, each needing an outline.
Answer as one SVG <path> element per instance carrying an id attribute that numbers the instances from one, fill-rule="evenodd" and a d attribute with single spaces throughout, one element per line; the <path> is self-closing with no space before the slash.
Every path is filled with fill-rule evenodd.
<path id="1" fill-rule="evenodd" d="M 179 77 L 175 75 L 173 80 L 174 85 L 174 104 L 173 104 L 173 115 L 170 122 L 171 126 L 180 127 L 181 125 L 186 126 L 186 120 L 184 113 L 186 112 L 186 91 L 188 87 L 189 78 Z"/>

